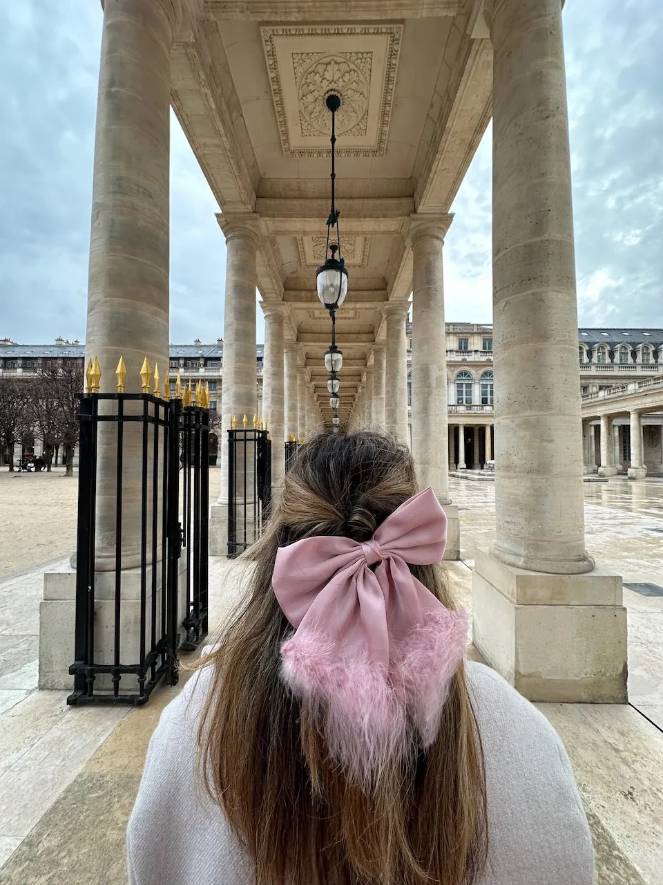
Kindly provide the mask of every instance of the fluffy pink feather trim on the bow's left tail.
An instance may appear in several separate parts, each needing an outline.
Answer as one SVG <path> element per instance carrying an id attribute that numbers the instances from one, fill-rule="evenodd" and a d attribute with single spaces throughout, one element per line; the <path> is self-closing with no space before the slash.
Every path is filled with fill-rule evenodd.
<path id="1" fill-rule="evenodd" d="M 310 706 L 331 757 L 352 781 L 370 789 L 413 740 L 386 668 L 363 650 L 339 655 L 339 644 L 319 629 L 300 627 L 281 655 L 282 678 Z"/>

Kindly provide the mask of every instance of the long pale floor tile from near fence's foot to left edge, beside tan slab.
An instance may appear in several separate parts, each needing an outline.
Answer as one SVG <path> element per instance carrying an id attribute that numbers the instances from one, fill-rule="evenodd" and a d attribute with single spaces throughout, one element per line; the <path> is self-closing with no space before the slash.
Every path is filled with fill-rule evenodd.
<path id="1" fill-rule="evenodd" d="M 0 775 L 0 833 L 27 835 L 127 712 L 119 707 L 68 708 Z"/>

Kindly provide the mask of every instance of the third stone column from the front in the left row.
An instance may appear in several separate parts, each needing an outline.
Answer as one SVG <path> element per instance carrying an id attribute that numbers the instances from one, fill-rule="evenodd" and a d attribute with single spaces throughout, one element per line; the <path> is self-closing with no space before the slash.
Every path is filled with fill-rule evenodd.
<path id="1" fill-rule="evenodd" d="M 263 301 L 264 358 L 263 358 L 263 418 L 271 435 L 271 485 L 283 481 L 286 450 L 283 447 L 286 416 L 284 412 L 283 327 L 285 307 Z"/>

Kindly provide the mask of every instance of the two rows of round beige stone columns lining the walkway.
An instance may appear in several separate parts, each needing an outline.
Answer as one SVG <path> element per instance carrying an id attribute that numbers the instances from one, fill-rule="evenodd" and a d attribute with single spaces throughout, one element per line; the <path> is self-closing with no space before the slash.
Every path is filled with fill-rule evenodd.
<path id="1" fill-rule="evenodd" d="M 87 335 L 88 354 L 101 364 L 102 392 L 114 385 L 120 353 L 126 360 L 127 392 L 139 392 L 145 354 L 152 365 L 168 365 L 170 47 L 178 5 L 169 0 L 107 0 L 105 7 Z M 494 0 L 490 26 L 493 342 L 499 378 L 494 407 L 496 531 L 492 546 L 475 550 L 474 643 L 531 699 L 624 701 L 621 578 L 595 570 L 584 546 L 560 0 Z M 255 212 L 224 212 L 218 220 L 227 244 L 222 421 L 229 427 L 233 414 L 255 411 L 256 260 L 263 226 Z M 458 558 L 458 517 L 447 479 L 442 281 L 442 247 L 450 221 L 448 214 L 420 206 L 406 227 L 413 260 L 412 450 L 421 485 L 431 485 L 446 510 L 447 555 Z M 308 402 L 310 384 L 297 343 L 286 341 L 285 309 L 269 299 L 263 304 L 263 412 L 274 443 L 301 435 L 302 423 L 309 427 L 317 417 Z M 364 375 L 355 409 L 357 422 L 370 419 L 404 442 L 407 312 L 408 302 L 395 296 L 385 304 L 385 332 L 371 342 L 367 368 L 372 377 L 370 372 Z M 631 428 L 639 441 L 637 413 L 631 416 Z M 463 433 L 459 425 L 460 438 Z M 222 434 L 222 471 L 227 471 L 226 438 Z M 641 464 L 638 445 L 634 458 Z M 283 474 L 282 449 L 272 446 L 275 482 Z M 107 455 L 102 450 L 97 477 L 100 560 L 110 547 L 110 517 L 115 513 L 114 501 L 104 499 L 104 477 L 112 473 L 110 450 Z M 132 461 L 129 453 L 127 475 Z M 225 552 L 227 482 L 222 488 L 222 498 L 211 508 L 212 553 Z M 140 503 L 138 493 L 127 494 L 123 502 L 123 567 L 136 564 Z"/>

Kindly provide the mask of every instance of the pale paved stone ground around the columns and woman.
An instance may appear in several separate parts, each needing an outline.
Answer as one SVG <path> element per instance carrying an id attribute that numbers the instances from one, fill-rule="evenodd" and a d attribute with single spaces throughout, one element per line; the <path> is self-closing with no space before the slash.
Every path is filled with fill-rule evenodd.
<path id="1" fill-rule="evenodd" d="M 212 471 L 212 494 L 219 479 L 220 471 Z M 57 481 L 57 475 L 47 481 Z M 24 512 L 33 519 L 39 511 L 47 525 L 57 522 L 66 507 L 75 512 L 75 485 L 62 480 L 60 488 L 68 490 L 58 490 L 57 503 L 50 504 L 36 484 L 21 483 Z M 450 564 L 449 577 L 471 606 L 472 550 L 494 533 L 494 485 L 453 481 L 452 492 L 461 506 L 465 563 Z M 61 494 L 70 496 L 68 504 Z M 588 547 L 601 564 L 621 570 L 625 581 L 663 584 L 663 551 L 657 543 L 663 533 L 663 485 L 616 479 L 587 485 L 585 496 Z M 74 523 L 75 514 L 69 534 L 59 535 L 63 547 L 50 547 L 47 558 L 68 554 Z M 25 531 L 16 521 L 14 528 Z M 52 535 L 53 543 L 57 536 Z M 4 548 L 4 534 L 1 543 Z M 16 572 L 15 560 L 12 564 Z M 224 559 L 210 562 L 210 605 L 217 621 L 239 597 L 237 569 Z M 122 885 L 126 819 L 149 736 L 173 689 L 157 691 L 145 707 L 130 711 L 66 707 L 65 692 L 35 690 L 41 593 L 39 567 L 0 584 L 0 880 Z M 560 732 L 575 767 L 597 852 L 597 881 L 661 885 L 663 598 L 625 590 L 625 601 L 631 705 L 539 706 Z"/>

